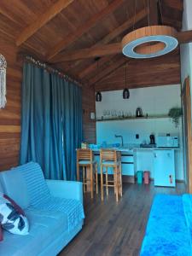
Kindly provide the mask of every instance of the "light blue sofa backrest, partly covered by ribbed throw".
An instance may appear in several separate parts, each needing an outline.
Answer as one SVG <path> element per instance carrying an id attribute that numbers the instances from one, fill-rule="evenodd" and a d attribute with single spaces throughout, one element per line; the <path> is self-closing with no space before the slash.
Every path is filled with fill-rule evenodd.
<path id="1" fill-rule="evenodd" d="M 49 200 L 49 188 L 38 163 L 29 162 L 9 171 L 0 172 L 3 192 L 23 209 Z"/>

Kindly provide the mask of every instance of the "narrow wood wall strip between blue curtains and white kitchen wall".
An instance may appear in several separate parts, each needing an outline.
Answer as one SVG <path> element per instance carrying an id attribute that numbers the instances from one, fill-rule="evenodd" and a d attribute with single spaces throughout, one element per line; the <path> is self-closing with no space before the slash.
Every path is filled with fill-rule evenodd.
<path id="1" fill-rule="evenodd" d="M 88 85 L 82 89 L 84 142 L 96 143 L 96 121 L 90 119 L 90 112 L 96 112 L 95 93 Z"/>

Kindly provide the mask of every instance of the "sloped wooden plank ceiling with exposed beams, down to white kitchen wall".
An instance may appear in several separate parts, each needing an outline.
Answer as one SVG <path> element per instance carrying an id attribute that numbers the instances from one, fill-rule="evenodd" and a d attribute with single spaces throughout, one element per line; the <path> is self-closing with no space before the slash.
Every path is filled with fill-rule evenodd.
<path id="1" fill-rule="evenodd" d="M 149 0 L 149 9 L 150 25 L 162 21 L 181 30 L 183 0 Z M 165 76 L 165 84 L 180 79 L 178 49 L 145 61 L 119 54 L 117 43 L 142 26 L 148 26 L 148 0 L 1 0 L 0 4 L 0 32 L 15 41 L 18 53 L 46 61 L 96 90 L 110 90 L 110 84 L 123 88 L 127 61 L 131 87 L 141 85 L 138 73 L 145 79 L 147 69 L 151 79 L 143 86 L 150 85 L 155 75 Z"/>

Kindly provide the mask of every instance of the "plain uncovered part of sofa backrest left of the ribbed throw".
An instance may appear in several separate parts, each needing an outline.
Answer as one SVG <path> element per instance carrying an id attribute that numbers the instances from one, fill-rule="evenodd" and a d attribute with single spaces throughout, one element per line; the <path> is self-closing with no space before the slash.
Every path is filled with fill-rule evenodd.
<path id="1" fill-rule="evenodd" d="M 4 194 L 9 195 L 21 208 L 29 206 L 26 182 L 19 168 L 0 172 L 0 183 L 3 185 Z"/>

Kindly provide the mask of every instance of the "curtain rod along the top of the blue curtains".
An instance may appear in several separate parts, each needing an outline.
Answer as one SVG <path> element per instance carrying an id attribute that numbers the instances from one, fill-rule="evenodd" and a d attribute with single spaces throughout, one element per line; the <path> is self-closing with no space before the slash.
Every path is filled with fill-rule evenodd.
<path id="1" fill-rule="evenodd" d="M 79 87 L 82 87 L 82 85 L 83 85 L 83 84 L 79 83 L 77 80 L 72 79 L 69 76 L 67 76 L 67 74 L 62 73 L 60 70 L 55 69 L 54 67 L 50 67 L 45 62 L 38 61 L 38 60 L 34 59 L 32 56 L 30 56 L 30 55 L 23 55 L 23 57 L 24 57 L 25 61 L 27 61 L 29 63 L 32 63 L 33 65 L 35 65 L 37 67 L 44 68 L 44 70 L 46 70 L 49 73 L 55 73 L 59 77 L 61 77 L 61 79 L 66 79 L 67 81 L 73 82 L 74 84 L 77 84 Z"/>

